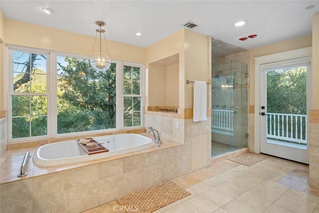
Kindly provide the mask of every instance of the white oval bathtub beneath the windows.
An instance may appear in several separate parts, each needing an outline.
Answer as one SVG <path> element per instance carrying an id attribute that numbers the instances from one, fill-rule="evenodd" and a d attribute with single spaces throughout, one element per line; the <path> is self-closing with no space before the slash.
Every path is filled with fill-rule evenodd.
<path id="1" fill-rule="evenodd" d="M 154 146 L 152 139 L 139 134 L 119 134 L 92 139 L 98 143 L 103 142 L 102 146 L 109 152 L 88 155 L 75 140 L 62 141 L 39 147 L 33 155 L 33 163 L 41 167 L 67 165 L 123 155 Z"/>

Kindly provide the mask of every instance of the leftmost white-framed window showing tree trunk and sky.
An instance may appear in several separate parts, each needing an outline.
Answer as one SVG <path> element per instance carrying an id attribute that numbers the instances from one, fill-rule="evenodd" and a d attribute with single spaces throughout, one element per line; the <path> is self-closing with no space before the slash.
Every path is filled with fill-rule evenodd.
<path id="1" fill-rule="evenodd" d="M 12 52 L 12 139 L 47 135 L 46 60 L 46 54 Z"/>

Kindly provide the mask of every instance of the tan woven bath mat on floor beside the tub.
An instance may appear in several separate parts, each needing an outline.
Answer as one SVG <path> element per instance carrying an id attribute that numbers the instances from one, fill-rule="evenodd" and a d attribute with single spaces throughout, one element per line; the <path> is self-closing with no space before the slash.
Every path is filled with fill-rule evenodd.
<path id="1" fill-rule="evenodd" d="M 171 181 L 143 189 L 118 199 L 124 207 L 133 207 L 138 213 L 152 213 L 168 204 L 178 201 L 190 193 Z M 137 211 L 138 210 L 138 211 Z M 127 210 L 128 212 L 132 210 Z"/>

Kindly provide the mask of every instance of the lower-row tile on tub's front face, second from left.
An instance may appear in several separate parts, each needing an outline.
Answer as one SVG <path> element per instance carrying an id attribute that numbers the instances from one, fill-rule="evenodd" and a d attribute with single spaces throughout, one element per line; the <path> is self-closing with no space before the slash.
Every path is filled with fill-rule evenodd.
<path id="1" fill-rule="evenodd" d="M 69 190 L 34 198 L 33 213 L 69 213 Z"/>

